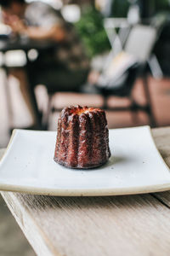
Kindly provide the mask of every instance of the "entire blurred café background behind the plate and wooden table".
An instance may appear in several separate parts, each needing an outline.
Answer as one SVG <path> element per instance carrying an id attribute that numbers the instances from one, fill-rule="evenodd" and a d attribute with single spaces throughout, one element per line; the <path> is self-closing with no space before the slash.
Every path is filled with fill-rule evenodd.
<path id="1" fill-rule="evenodd" d="M 169 0 L 0 0 L 0 148 L 62 108 L 109 128 L 170 125 Z M 35 255 L 0 199 L 0 255 Z"/>

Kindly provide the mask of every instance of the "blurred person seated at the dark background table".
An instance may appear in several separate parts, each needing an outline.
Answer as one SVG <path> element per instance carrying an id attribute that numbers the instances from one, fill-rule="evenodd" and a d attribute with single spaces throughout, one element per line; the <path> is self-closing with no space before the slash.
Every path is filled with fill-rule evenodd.
<path id="1" fill-rule="evenodd" d="M 39 40 L 40 44 L 42 40 L 56 43 L 56 48 L 44 51 L 29 65 L 33 84 L 54 87 L 56 91 L 76 90 L 86 81 L 88 58 L 74 27 L 65 22 L 59 11 L 38 1 L 26 3 L 25 0 L 0 0 L 0 5 L 4 23 L 11 26 L 16 35 Z M 20 80 L 20 90 L 36 123 L 26 73 L 24 69 L 11 73 Z"/>

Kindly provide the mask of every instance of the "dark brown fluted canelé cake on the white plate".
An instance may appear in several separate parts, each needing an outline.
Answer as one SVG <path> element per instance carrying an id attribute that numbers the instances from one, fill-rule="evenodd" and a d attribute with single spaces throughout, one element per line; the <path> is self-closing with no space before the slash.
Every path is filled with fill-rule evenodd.
<path id="1" fill-rule="evenodd" d="M 94 168 L 110 158 L 105 111 L 99 108 L 64 108 L 58 120 L 54 160 L 71 168 Z"/>

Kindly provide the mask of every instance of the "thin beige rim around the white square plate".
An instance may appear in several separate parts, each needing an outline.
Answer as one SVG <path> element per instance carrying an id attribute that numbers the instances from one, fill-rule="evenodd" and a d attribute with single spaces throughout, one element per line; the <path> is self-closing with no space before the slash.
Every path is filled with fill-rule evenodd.
<path id="1" fill-rule="evenodd" d="M 160 151 L 156 147 L 155 140 L 152 136 L 152 132 L 150 129 L 150 125 L 141 125 L 136 127 L 126 127 L 126 128 L 116 128 L 111 130 L 118 130 L 118 129 L 131 129 L 131 128 L 139 128 L 139 127 L 147 127 L 148 131 L 150 131 L 150 137 L 152 139 L 152 143 L 154 143 L 157 153 L 160 156 L 161 162 L 170 171 L 167 163 L 161 156 Z M 34 131 L 34 130 L 23 130 L 23 129 L 14 129 L 12 135 L 9 139 L 7 148 L 3 148 L 4 150 L 3 155 L 1 156 L 0 162 L 5 158 L 8 153 L 8 149 L 10 148 L 16 131 Z M 34 131 L 35 132 L 35 131 Z M 48 132 L 48 131 L 37 131 L 37 132 Z M 50 131 L 49 131 L 50 132 Z M 0 182 L 0 190 L 2 191 L 10 191 L 10 192 L 19 192 L 19 193 L 26 193 L 31 195 L 55 195 L 55 196 L 109 196 L 109 195 L 137 195 L 137 194 L 147 194 L 147 193 L 155 193 L 155 192 L 162 192 L 167 191 L 170 189 L 170 182 L 167 183 L 159 183 L 159 184 L 151 184 L 145 186 L 138 186 L 138 187 L 122 187 L 122 188 L 109 188 L 109 189 L 50 189 L 50 188 L 36 188 L 32 186 L 22 186 L 22 185 L 14 185 L 8 183 L 1 183 Z"/>

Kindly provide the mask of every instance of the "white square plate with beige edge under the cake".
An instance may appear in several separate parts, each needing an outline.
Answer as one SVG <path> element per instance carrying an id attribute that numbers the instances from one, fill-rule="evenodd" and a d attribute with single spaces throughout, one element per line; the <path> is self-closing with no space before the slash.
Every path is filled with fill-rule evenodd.
<path id="1" fill-rule="evenodd" d="M 56 132 L 15 130 L 0 162 L 0 189 L 42 195 L 125 195 L 170 189 L 149 126 L 110 130 L 111 158 L 95 169 L 54 162 Z"/>

